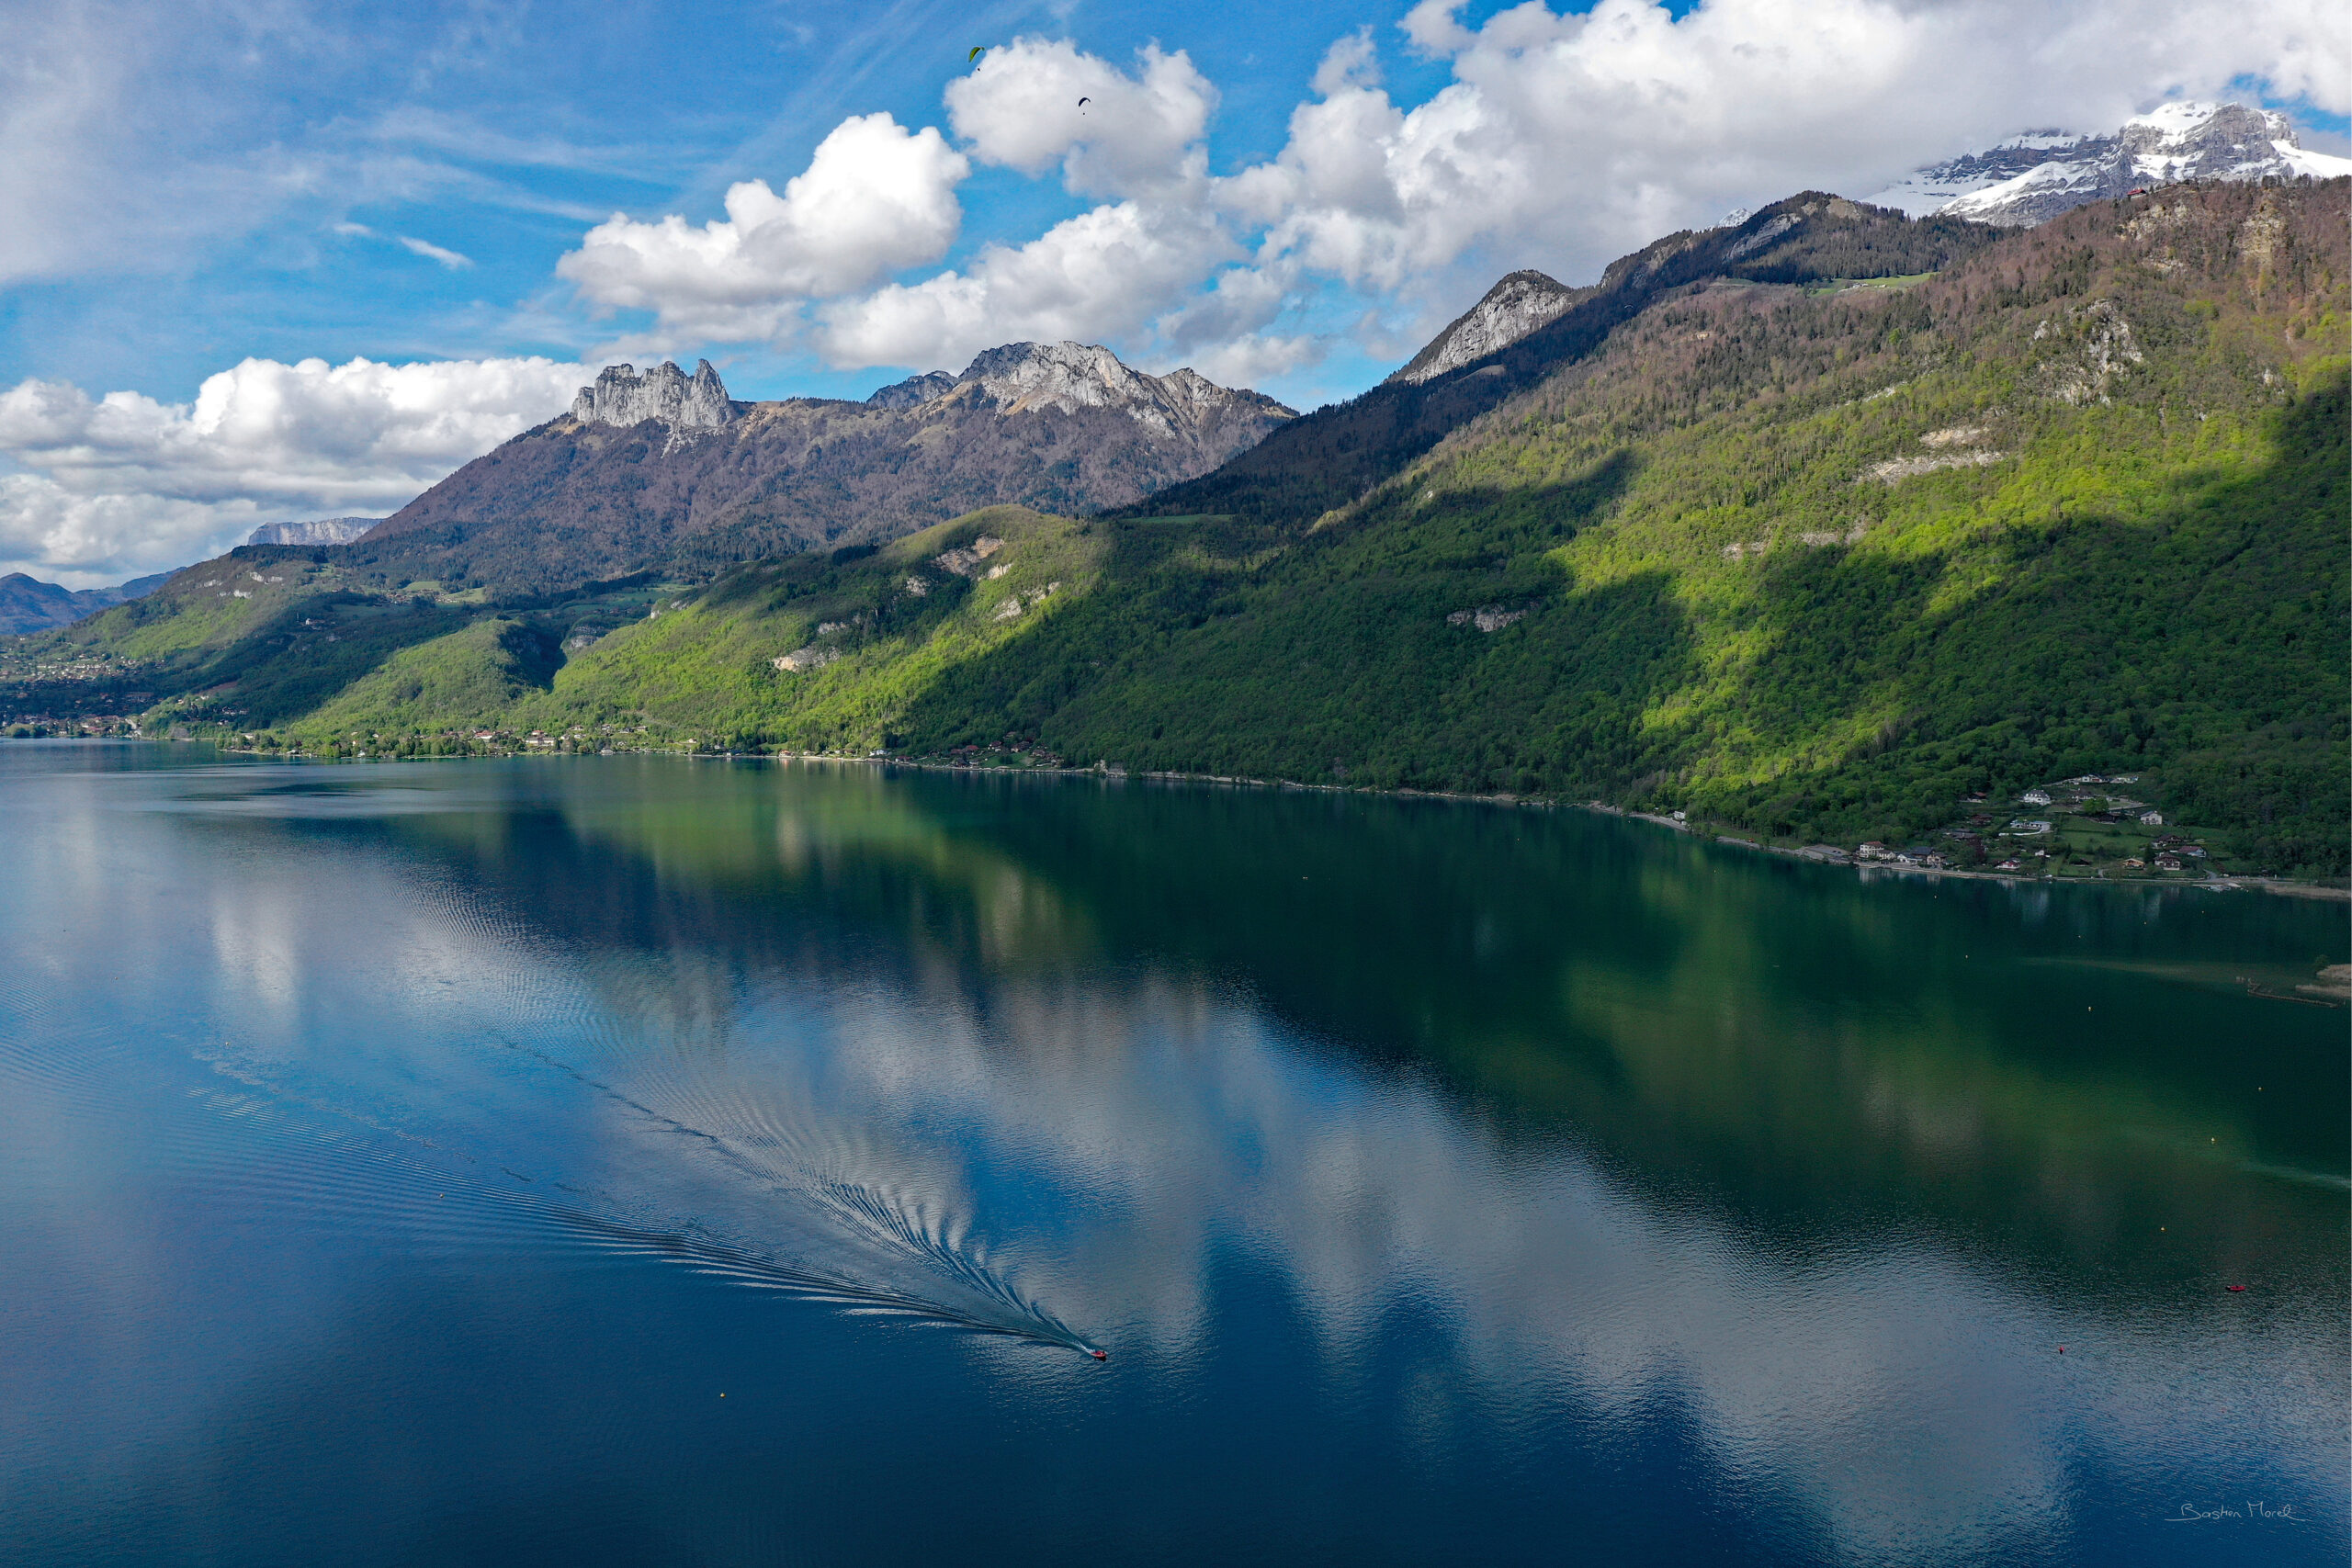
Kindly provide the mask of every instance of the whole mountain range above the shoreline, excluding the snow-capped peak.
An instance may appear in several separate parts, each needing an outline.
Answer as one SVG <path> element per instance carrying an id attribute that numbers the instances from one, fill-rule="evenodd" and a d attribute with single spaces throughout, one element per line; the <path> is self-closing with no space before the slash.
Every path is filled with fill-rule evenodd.
<path id="1" fill-rule="evenodd" d="M 2347 193 L 1804 193 L 1515 273 L 1305 416 L 1075 343 L 866 402 L 616 367 L 358 543 L 35 649 L 263 750 L 1061 757 L 1790 844 L 2126 771 L 2340 875 Z"/>

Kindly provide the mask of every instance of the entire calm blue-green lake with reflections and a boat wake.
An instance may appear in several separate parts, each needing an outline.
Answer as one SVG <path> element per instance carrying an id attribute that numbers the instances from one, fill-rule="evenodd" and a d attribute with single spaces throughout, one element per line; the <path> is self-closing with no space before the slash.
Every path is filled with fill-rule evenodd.
<path id="1" fill-rule="evenodd" d="M 2345 1561 L 2347 1016 L 2244 985 L 2345 905 L 630 757 L 0 825 L 7 1563 Z"/>

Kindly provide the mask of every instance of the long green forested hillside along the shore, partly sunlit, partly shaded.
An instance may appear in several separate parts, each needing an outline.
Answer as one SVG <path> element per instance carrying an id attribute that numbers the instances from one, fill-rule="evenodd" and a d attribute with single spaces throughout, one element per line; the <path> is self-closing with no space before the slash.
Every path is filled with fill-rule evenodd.
<path id="1" fill-rule="evenodd" d="M 313 750 L 437 745 L 461 722 L 981 748 L 1606 799 L 1839 844 L 2126 773 L 2216 853 L 2340 875 L 2345 181 L 2093 205 L 1933 275 L 1900 263 L 1936 233 L 1905 249 L 1879 228 L 1804 266 L 1677 273 L 1442 440 L 1352 447 L 1338 491 L 1301 480 L 1315 416 L 1169 491 L 1230 512 L 1007 508 L 696 590 L 501 607 L 496 635 L 433 621 L 485 609 L 419 599 L 400 670 L 270 724 Z M 985 564 L 943 564 L 983 536 L 1004 541 Z M 614 595 L 637 595 L 626 623 Z M 619 630 L 555 668 L 583 616 Z M 96 642 L 134 635 L 158 632 Z M 268 686 L 266 665 L 202 701 Z M 466 682 L 480 696 L 447 696 Z"/>

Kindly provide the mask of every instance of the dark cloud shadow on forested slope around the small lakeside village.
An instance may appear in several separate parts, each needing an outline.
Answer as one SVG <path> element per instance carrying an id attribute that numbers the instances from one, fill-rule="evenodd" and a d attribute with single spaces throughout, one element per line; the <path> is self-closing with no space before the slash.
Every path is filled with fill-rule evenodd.
<path id="1" fill-rule="evenodd" d="M 1710 806 L 1917 832 L 1971 788 L 2164 769 L 2176 813 L 2340 867 L 2345 414 L 2338 376 L 2272 418 L 2256 473 L 2009 529 L 1985 585 L 1943 607 L 1957 552 L 1773 557 L 1771 651 L 1736 710 L 1795 766 Z M 1856 736 L 1865 703 L 1886 722 Z"/>

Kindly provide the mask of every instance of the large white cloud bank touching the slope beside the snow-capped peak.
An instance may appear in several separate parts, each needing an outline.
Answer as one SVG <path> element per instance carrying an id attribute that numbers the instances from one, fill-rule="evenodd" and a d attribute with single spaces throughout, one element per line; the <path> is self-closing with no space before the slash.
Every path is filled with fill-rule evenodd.
<path id="1" fill-rule="evenodd" d="M 2296 0 L 1710 0 L 1682 16 L 1602 0 L 1519 5 L 1479 28 L 1458 9 L 1425 0 L 1402 24 L 1454 71 L 1428 103 L 1392 103 L 1334 52 L 1289 146 L 1230 181 L 1268 256 L 1406 296 L 1470 254 L 1479 277 L 1590 277 L 1726 207 L 1809 186 L 1867 195 L 2016 129 L 2103 129 L 2154 94 L 2237 78 L 2317 92 L 2321 56 L 2352 75 L 2347 28 Z"/>

